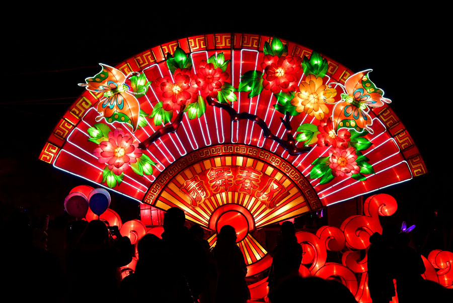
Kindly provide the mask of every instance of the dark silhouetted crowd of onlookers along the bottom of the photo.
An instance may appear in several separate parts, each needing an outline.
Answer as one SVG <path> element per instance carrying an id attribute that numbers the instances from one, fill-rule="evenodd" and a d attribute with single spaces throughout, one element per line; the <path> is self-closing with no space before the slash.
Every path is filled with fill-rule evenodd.
<path id="1" fill-rule="evenodd" d="M 61 261 L 46 248 L 48 221 L 47 216 L 30 222 L 24 212 L 2 221 L 2 228 L 8 227 L 2 249 L 3 286 L 14 294 L 14 301 L 245 303 L 251 299 L 247 266 L 230 225 L 220 229 L 210 249 L 203 228 L 188 229 L 184 212 L 171 208 L 165 214 L 162 239 L 146 234 L 136 253 L 117 227 L 100 220 L 73 221 L 65 228 Z M 370 242 L 368 286 L 373 302 L 387 303 L 396 293 L 401 303 L 448 301 L 448 290 L 422 278 L 423 261 L 409 246 L 406 233 L 385 228 Z M 271 251 L 269 302 L 356 301 L 335 279 L 300 277 L 303 254 L 294 225 L 284 222 Z M 138 256 L 135 271 L 121 279 L 120 267 L 134 255 Z"/>

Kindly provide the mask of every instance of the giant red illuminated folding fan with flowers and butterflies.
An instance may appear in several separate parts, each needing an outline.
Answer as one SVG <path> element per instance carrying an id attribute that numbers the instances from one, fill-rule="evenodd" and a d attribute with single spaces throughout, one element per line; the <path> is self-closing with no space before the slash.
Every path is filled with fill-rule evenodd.
<path id="1" fill-rule="evenodd" d="M 234 225 L 257 280 L 272 258 L 254 230 L 426 172 L 370 70 L 291 41 L 199 35 L 101 67 L 40 159 L 150 207 L 183 209 L 211 231 L 211 246 L 218 226 Z M 367 239 L 356 242 L 345 237 L 350 247 Z"/>

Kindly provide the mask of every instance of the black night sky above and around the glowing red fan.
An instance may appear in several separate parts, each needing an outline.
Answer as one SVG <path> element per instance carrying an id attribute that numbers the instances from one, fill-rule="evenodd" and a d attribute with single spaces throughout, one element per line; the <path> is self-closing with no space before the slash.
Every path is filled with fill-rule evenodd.
<path id="1" fill-rule="evenodd" d="M 164 18 L 148 13 L 148 17 L 136 21 L 109 18 L 104 21 L 110 23 L 102 25 L 99 16 L 71 19 L 49 13 L 27 16 L 21 25 L 3 25 L 8 29 L 3 33 L 7 54 L 2 64 L 6 95 L 0 100 L 7 129 L 3 132 L 4 163 L 0 166 L 0 199 L 4 203 L 34 205 L 38 213 L 57 215 L 68 191 L 84 184 L 82 179 L 57 171 L 37 157 L 52 128 L 84 91 L 77 84 L 97 73 L 99 62 L 115 65 L 146 48 L 190 35 L 249 32 L 305 45 L 356 72 L 372 68 L 372 81 L 393 100 L 392 108 L 430 171 L 383 192 L 397 197 L 397 215 L 409 224 L 432 221 L 434 211 L 451 217 L 451 207 L 446 203 L 447 197 L 451 200 L 447 195 L 451 164 L 448 151 L 442 147 L 451 132 L 445 131 L 450 128 L 446 122 L 438 122 L 446 120 L 451 108 L 441 107 L 450 102 L 448 89 L 442 84 L 447 83 L 442 80 L 447 61 L 442 56 L 447 53 L 438 40 L 446 34 L 446 21 L 428 22 L 428 12 L 377 12 L 369 19 L 354 19 L 351 12 L 327 18 L 329 13 L 319 10 L 315 14 L 318 19 L 313 21 L 308 13 L 297 18 L 289 12 L 275 17 L 260 15 L 250 20 L 244 19 L 243 12 L 229 13 L 229 20 L 188 13 L 190 20 L 199 20 L 188 21 L 181 14 Z M 117 204 L 118 208 L 137 210 L 132 200 Z"/>

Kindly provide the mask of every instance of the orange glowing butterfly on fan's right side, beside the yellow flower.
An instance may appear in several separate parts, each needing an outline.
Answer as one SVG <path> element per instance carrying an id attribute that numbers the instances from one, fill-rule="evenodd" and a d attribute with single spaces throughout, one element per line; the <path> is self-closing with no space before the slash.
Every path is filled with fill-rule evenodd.
<path id="1" fill-rule="evenodd" d="M 335 104 L 333 109 L 333 126 L 335 132 L 341 128 L 354 129 L 357 132 L 367 130 L 373 133 L 370 128 L 372 125 L 371 117 L 368 115 L 369 108 L 379 108 L 384 103 L 391 103 L 392 100 L 384 97 L 384 91 L 377 88 L 368 78 L 367 69 L 353 74 L 346 79 L 344 86 L 341 83 L 333 82 L 341 86 L 344 93 L 341 94 L 341 100 Z M 325 100 L 326 101 L 326 100 Z"/>

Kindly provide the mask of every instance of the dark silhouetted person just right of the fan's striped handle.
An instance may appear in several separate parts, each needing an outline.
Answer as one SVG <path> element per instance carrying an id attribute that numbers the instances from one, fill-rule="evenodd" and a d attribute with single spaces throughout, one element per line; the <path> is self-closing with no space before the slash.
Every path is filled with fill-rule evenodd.
<path id="1" fill-rule="evenodd" d="M 302 262 L 303 250 L 295 237 L 294 225 L 285 221 L 282 223 L 281 238 L 273 251 L 272 266 L 269 272 L 269 290 L 277 286 L 284 279 L 298 276 L 299 266 Z"/>

